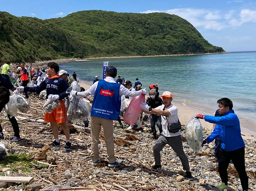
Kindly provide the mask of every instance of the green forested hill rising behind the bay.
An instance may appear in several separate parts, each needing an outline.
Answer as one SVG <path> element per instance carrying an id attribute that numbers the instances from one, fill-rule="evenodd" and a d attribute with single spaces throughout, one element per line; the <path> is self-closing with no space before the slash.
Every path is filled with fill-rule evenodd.
<path id="1" fill-rule="evenodd" d="M 41 20 L 0 11 L 0 60 L 224 52 L 166 13 L 79 11 Z"/>

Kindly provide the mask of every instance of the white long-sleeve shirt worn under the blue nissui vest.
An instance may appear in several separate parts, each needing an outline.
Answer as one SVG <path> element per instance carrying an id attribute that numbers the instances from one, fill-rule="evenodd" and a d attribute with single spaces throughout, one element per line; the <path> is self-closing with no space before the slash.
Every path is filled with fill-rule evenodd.
<path id="1" fill-rule="evenodd" d="M 113 77 L 106 77 L 104 79 L 106 82 L 110 82 L 110 83 L 116 83 Z M 98 86 L 98 82 L 95 82 L 88 90 L 83 91 L 83 92 L 77 92 L 78 96 L 81 97 L 87 97 L 89 95 L 94 95 L 96 88 Z M 129 97 L 137 97 L 138 95 L 140 95 L 143 91 L 130 91 L 127 88 L 125 88 L 125 86 L 120 85 L 120 89 L 119 89 L 119 95 L 128 95 Z"/>

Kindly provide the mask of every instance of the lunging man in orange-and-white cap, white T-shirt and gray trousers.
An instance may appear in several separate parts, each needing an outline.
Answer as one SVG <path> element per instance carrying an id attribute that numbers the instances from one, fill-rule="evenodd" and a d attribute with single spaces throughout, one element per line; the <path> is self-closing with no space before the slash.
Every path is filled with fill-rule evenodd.
<path id="1" fill-rule="evenodd" d="M 156 107 L 155 109 L 149 107 L 147 103 L 141 103 L 140 107 L 142 111 L 147 114 L 158 114 L 161 115 L 163 132 L 156 141 L 154 146 L 154 158 L 155 166 L 152 168 L 153 171 L 162 169 L 160 151 L 166 144 L 169 144 L 171 148 L 179 156 L 183 169 L 186 171 L 185 178 L 193 178 L 191 172 L 189 172 L 188 158 L 183 150 L 182 140 L 180 136 L 181 124 L 178 118 L 178 109 L 172 105 L 172 94 L 171 92 L 165 91 L 161 96 L 163 98 L 163 105 Z"/>

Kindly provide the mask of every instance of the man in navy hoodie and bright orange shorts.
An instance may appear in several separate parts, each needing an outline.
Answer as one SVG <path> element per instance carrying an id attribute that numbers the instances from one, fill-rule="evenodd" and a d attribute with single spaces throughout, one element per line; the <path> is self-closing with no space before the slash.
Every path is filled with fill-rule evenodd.
<path id="1" fill-rule="evenodd" d="M 63 101 L 63 99 L 68 96 L 68 94 L 65 93 L 68 89 L 68 84 L 57 73 L 59 72 L 59 65 L 57 63 L 48 63 L 46 72 L 49 76 L 44 81 L 42 81 L 42 83 L 39 86 L 25 88 L 23 86 L 20 86 L 17 88 L 17 90 L 41 92 L 46 89 L 46 99 L 48 98 L 49 94 L 53 94 L 53 100 L 60 100 L 61 106 L 59 108 L 54 109 L 52 113 L 45 113 L 45 122 L 51 123 L 52 132 L 55 139 L 51 146 L 60 147 L 60 140 L 58 135 L 59 128 L 57 125 L 59 123 L 62 126 L 67 139 L 64 150 L 70 150 L 71 143 L 69 138 L 69 127 L 67 123 L 67 109 Z"/>

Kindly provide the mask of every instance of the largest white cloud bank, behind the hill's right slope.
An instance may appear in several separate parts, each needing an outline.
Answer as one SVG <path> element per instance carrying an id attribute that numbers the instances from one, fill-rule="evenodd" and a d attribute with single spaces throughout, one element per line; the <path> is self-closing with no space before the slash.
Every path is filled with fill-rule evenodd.
<path id="1" fill-rule="evenodd" d="M 242 9 L 239 15 L 234 10 L 227 12 L 211 9 L 177 8 L 169 10 L 147 10 L 142 13 L 169 13 L 178 15 L 194 27 L 203 27 L 205 30 L 222 30 L 228 27 L 241 26 L 246 22 L 256 23 L 256 10 Z M 217 21 L 218 20 L 218 21 Z"/>

